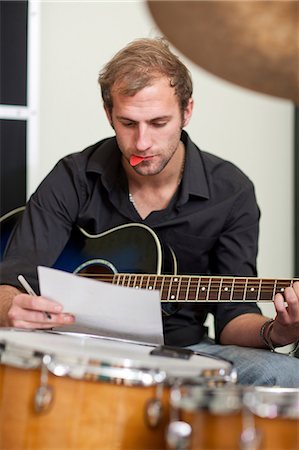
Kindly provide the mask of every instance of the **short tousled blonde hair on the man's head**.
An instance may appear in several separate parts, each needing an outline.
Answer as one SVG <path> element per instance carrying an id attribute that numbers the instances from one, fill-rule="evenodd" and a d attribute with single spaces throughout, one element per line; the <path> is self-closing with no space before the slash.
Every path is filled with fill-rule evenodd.
<path id="1" fill-rule="evenodd" d="M 133 96 L 161 76 L 175 89 L 183 113 L 193 89 L 189 70 L 164 38 L 136 39 L 116 53 L 99 74 L 105 107 L 112 112 L 112 89 L 116 86 L 122 95 Z"/>

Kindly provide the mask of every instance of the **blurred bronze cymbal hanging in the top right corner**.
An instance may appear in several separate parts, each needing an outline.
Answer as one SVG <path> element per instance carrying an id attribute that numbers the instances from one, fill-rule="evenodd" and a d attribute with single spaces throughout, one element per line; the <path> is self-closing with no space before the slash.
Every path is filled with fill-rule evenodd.
<path id="1" fill-rule="evenodd" d="M 151 1 L 168 41 L 227 81 L 299 105 L 299 1 Z"/>

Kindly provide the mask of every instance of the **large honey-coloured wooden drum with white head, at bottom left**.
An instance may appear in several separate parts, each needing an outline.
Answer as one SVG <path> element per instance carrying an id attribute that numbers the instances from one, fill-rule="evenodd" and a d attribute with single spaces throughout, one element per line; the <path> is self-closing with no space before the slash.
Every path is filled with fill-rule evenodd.
<path id="1" fill-rule="evenodd" d="M 170 386 L 217 384 L 231 364 L 191 351 L 0 330 L 0 448 L 163 449 Z"/>

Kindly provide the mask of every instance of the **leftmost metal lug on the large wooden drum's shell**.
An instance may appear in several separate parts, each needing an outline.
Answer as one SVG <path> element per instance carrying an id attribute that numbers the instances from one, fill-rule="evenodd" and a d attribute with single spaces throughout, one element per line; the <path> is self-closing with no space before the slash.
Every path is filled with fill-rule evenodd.
<path id="1" fill-rule="evenodd" d="M 34 409 L 37 413 L 47 412 L 54 399 L 54 390 L 48 385 L 48 364 L 51 361 L 49 355 L 44 355 L 41 366 L 40 386 L 36 389 L 34 396 Z"/>

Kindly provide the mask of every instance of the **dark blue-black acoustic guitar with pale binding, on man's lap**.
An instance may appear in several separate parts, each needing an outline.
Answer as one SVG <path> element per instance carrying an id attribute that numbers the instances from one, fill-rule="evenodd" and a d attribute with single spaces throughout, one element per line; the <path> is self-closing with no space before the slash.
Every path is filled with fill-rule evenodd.
<path id="1" fill-rule="evenodd" d="M 1 258 L 24 208 L 0 219 Z M 5 241 L 5 242 L 4 242 Z M 129 223 L 92 235 L 75 228 L 55 268 L 136 289 L 157 289 L 162 302 L 273 302 L 296 279 L 162 274 L 163 249 L 146 225 Z"/>

